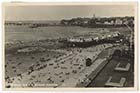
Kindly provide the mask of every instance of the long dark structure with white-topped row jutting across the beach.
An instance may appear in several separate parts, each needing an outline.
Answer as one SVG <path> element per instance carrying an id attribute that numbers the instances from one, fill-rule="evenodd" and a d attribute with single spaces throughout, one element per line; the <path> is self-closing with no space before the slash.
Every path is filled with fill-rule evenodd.
<path id="1" fill-rule="evenodd" d="M 89 47 L 92 45 L 103 44 L 103 43 L 116 43 L 122 41 L 123 35 L 118 31 L 110 34 L 105 34 L 96 37 L 72 37 L 67 38 L 63 42 L 67 47 Z"/>

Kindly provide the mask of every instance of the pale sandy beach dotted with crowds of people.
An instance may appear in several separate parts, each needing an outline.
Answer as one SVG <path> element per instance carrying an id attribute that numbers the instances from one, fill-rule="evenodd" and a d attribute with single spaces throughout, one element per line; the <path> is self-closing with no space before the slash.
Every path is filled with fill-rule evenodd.
<path id="1" fill-rule="evenodd" d="M 40 62 L 33 63 L 29 66 L 26 73 L 19 73 L 16 77 L 6 77 L 8 83 L 24 82 L 24 83 L 57 83 L 62 84 L 65 79 L 78 74 L 86 68 L 86 58 L 96 58 L 101 51 L 112 47 L 111 44 L 97 45 L 89 48 L 69 48 L 64 55 L 59 54 L 53 59 L 40 58 Z M 62 50 L 61 50 L 62 51 Z M 66 52 L 66 50 L 64 50 Z M 97 52 L 100 51 L 100 52 Z M 44 72 L 45 71 L 45 72 Z M 47 72 L 46 72 L 47 71 Z M 40 73 L 44 73 L 43 77 L 48 78 L 44 81 L 40 77 Z M 29 79 L 27 79 L 27 77 Z M 37 78 L 38 77 L 38 78 Z M 17 79 L 18 78 L 18 79 Z M 36 81 L 37 79 L 37 81 Z"/>

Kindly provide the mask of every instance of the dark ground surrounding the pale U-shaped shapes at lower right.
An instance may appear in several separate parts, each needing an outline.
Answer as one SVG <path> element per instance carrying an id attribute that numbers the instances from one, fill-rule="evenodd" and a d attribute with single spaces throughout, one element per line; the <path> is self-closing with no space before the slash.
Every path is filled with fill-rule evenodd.
<path id="1" fill-rule="evenodd" d="M 130 63 L 130 69 L 128 72 L 115 72 L 114 68 L 118 63 L 127 64 Z M 92 80 L 92 82 L 87 87 L 104 87 L 108 78 L 112 76 L 113 81 L 118 82 L 121 77 L 126 78 L 125 87 L 134 86 L 134 63 L 128 58 L 124 57 L 113 57 L 112 60 L 105 66 L 104 69 L 99 73 L 99 75 Z"/>

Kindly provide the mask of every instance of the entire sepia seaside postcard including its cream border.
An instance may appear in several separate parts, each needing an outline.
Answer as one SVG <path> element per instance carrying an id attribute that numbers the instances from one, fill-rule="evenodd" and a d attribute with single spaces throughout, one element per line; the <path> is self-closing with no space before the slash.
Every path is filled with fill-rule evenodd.
<path id="1" fill-rule="evenodd" d="M 137 89 L 137 2 L 2 8 L 5 90 Z"/>

